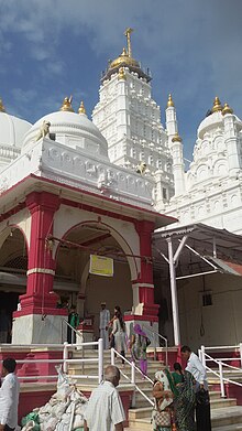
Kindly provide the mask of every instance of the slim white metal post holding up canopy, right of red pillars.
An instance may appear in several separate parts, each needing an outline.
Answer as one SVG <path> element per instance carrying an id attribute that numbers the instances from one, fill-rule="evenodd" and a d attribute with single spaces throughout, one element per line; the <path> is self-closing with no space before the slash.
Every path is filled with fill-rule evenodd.
<path id="1" fill-rule="evenodd" d="M 180 332 L 179 332 L 178 300 L 177 300 L 177 289 L 176 289 L 176 270 L 174 265 L 172 238 L 167 239 L 167 244 L 168 244 L 168 259 L 169 259 L 169 280 L 170 280 L 170 293 L 172 293 L 174 342 L 175 345 L 178 346 L 180 344 Z"/>

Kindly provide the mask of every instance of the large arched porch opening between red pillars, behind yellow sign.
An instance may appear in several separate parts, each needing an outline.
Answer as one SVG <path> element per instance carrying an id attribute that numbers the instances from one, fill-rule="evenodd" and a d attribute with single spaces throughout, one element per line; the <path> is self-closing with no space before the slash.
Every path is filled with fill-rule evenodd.
<path id="1" fill-rule="evenodd" d="M 111 314 L 114 305 L 120 305 L 123 312 L 131 311 L 133 305 L 128 258 L 133 260 L 133 268 L 135 261 L 131 257 L 131 251 L 127 258 L 123 247 L 118 241 L 119 237 L 120 234 L 113 233 L 110 226 L 86 222 L 74 226 L 65 235 L 56 252 L 55 285 L 66 280 L 66 290 L 65 294 L 55 291 L 63 300 L 68 298 L 69 303 L 74 302 L 77 305 L 81 319 L 94 319 L 96 336 L 99 332 L 99 311 L 102 301 L 107 302 Z M 113 277 L 89 273 L 91 254 L 113 259 Z"/>

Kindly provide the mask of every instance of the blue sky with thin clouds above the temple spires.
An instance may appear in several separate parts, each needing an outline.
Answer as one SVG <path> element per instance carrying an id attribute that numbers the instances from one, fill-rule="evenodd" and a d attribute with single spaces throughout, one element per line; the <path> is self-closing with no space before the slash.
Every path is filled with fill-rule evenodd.
<path id="1" fill-rule="evenodd" d="M 67 95 L 90 118 L 100 73 L 125 45 L 150 67 L 165 122 L 168 93 L 185 157 L 215 96 L 242 117 L 241 0 L 0 0 L 0 97 L 34 122 Z"/>

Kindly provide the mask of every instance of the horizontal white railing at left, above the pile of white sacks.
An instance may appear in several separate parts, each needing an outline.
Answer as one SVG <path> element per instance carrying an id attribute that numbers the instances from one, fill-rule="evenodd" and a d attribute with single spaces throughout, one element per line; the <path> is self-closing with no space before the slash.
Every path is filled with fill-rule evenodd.
<path id="1" fill-rule="evenodd" d="M 63 349 L 63 358 L 56 358 L 56 359 L 36 359 L 36 358 L 25 358 L 25 359 L 16 359 L 16 364 L 55 364 L 55 365 L 63 365 L 64 373 L 68 374 L 68 364 L 85 364 L 85 363 L 94 363 L 98 365 L 98 374 L 97 375 L 70 375 L 69 377 L 74 379 L 98 379 L 99 382 L 103 380 L 103 340 L 99 338 L 98 342 L 90 342 L 90 343 L 80 343 L 80 344 L 68 344 L 67 342 L 64 344 L 31 344 L 31 345 L 13 345 L 13 344 L 6 344 L 1 346 L 8 346 L 9 352 L 16 349 L 30 349 L 28 354 L 31 354 L 32 349 L 34 348 L 43 348 L 43 347 L 48 347 L 48 348 L 55 348 L 58 347 L 59 351 L 61 348 Z M 84 357 L 84 348 L 85 347 L 98 347 L 97 352 L 97 357 L 91 357 L 87 358 Z M 81 351 L 81 358 L 69 358 L 69 352 L 74 348 L 78 348 Z M 2 362 L 2 360 L 0 360 Z M 21 370 L 21 369 L 20 369 Z M 18 375 L 18 373 L 16 373 Z M 31 376 L 18 376 L 21 381 L 36 381 L 36 380 L 57 380 L 57 373 L 56 375 L 31 375 Z M 50 381 L 48 381 L 50 382 Z"/>

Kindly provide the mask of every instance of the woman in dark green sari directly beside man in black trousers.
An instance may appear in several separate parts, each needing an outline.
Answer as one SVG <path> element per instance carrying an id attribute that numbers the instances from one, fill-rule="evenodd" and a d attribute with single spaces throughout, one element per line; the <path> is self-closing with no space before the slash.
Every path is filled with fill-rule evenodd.
<path id="1" fill-rule="evenodd" d="M 195 390 L 194 377 L 185 370 L 183 382 L 176 386 L 174 396 L 175 420 L 179 431 L 195 431 Z"/>

